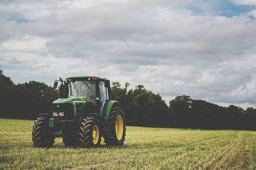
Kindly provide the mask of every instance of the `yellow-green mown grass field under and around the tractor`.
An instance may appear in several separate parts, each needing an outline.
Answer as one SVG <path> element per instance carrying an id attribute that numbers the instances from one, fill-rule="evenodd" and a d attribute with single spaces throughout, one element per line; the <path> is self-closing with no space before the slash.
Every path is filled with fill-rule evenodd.
<path id="1" fill-rule="evenodd" d="M 127 127 L 122 147 L 34 148 L 32 124 L 0 119 L 0 169 L 256 169 L 256 132 Z"/>

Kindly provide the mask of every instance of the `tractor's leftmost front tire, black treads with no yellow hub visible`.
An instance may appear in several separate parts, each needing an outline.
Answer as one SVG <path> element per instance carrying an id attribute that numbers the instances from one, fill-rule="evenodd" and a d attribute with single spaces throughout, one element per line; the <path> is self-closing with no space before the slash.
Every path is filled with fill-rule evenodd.
<path id="1" fill-rule="evenodd" d="M 49 132 L 49 118 L 36 118 L 32 128 L 32 141 L 35 147 L 52 147 L 54 143 L 54 136 L 48 134 Z"/>

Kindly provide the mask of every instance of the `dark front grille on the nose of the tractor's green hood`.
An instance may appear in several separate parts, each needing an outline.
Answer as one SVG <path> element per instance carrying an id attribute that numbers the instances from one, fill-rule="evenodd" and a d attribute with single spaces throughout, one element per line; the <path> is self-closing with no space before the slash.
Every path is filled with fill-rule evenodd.
<path id="1" fill-rule="evenodd" d="M 73 105 L 70 103 L 67 104 L 53 104 L 52 112 L 64 112 L 65 117 L 72 118 L 74 115 Z"/>

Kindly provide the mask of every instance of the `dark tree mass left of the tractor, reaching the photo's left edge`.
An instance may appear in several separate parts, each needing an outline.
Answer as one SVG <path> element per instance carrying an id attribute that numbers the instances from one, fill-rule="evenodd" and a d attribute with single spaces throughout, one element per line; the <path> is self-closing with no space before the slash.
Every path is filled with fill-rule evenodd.
<path id="1" fill-rule="evenodd" d="M 0 70 L 0 96 L 0 117 L 35 119 L 38 113 L 51 113 L 58 92 L 38 81 L 15 85 Z"/>

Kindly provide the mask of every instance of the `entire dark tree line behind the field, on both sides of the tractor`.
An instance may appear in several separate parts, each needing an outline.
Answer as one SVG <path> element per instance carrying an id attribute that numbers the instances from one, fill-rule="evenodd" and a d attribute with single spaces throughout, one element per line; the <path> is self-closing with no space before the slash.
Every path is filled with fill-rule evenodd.
<path id="1" fill-rule="evenodd" d="M 112 83 L 113 99 L 125 112 L 127 125 L 148 127 L 180 127 L 197 129 L 256 130 L 256 109 L 230 105 L 218 106 L 204 100 L 177 96 L 168 104 L 159 94 L 137 85 L 128 89 L 116 81 Z M 52 101 L 58 99 L 57 90 L 38 81 L 15 85 L 0 70 L 0 117 L 34 119 L 38 113 L 51 113 Z"/>

